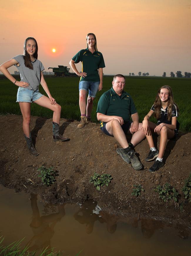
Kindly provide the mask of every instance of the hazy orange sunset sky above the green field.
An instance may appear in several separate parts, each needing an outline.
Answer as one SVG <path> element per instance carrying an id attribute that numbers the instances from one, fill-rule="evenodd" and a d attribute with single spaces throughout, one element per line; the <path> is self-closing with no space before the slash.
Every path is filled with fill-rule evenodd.
<path id="1" fill-rule="evenodd" d="M 104 74 L 191 72 L 190 0 L 7 0 L 1 1 L 0 13 L 0 63 L 23 54 L 24 40 L 32 36 L 46 71 L 69 66 L 93 32 Z"/>

